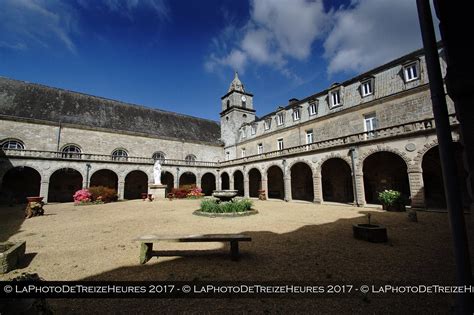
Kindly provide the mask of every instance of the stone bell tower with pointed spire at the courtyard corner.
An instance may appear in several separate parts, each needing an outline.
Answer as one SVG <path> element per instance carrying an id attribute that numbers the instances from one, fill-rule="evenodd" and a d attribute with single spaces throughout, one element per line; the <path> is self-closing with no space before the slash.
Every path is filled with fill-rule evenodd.
<path id="1" fill-rule="evenodd" d="M 221 140 L 224 142 L 226 156 L 234 159 L 240 127 L 255 121 L 253 94 L 245 91 L 237 72 L 230 83 L 229 90 L 221 97 L 221 104 Z"/>

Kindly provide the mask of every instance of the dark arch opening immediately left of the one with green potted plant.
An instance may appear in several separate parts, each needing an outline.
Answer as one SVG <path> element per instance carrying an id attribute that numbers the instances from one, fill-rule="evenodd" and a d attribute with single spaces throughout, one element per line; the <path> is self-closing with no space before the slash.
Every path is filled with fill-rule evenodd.
<path id="1" fill-rule="evenodd" d="M 354 201 L 352 171 L 348 161 L 335 156 L 324 159 L 320 172 L 324 201 Z"/>

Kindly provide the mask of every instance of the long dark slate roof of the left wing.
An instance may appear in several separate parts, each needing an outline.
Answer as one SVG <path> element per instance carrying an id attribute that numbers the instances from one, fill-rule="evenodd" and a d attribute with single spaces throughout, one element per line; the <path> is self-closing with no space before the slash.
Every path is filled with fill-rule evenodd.
<path id="1" fill-rule="evenodd" d="M 212 120 L 3 77 L 0 115 L 221 144 Z"/>

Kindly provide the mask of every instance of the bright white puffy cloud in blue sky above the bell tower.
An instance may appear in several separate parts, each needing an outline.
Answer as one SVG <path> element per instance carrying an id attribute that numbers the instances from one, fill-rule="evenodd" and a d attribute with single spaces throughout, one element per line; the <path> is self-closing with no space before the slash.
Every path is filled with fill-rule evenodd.
<path id="1" fill-rule="evenodd" d="M 238 30 L 231 27 L 234 36 L 221 34 L 213 39 L 214 51 L 205 62 L 206 69 L 229 66 L 243 73 L 255 62 L 296 79 L 286 65 L 290 59 L 308 58 L 313 42 L 324 33 L 327 15 L 322 1 L 251 0 L 250 7 L 245 26 Z M 232 41 L 236 44 L 229 47 Z"/>

